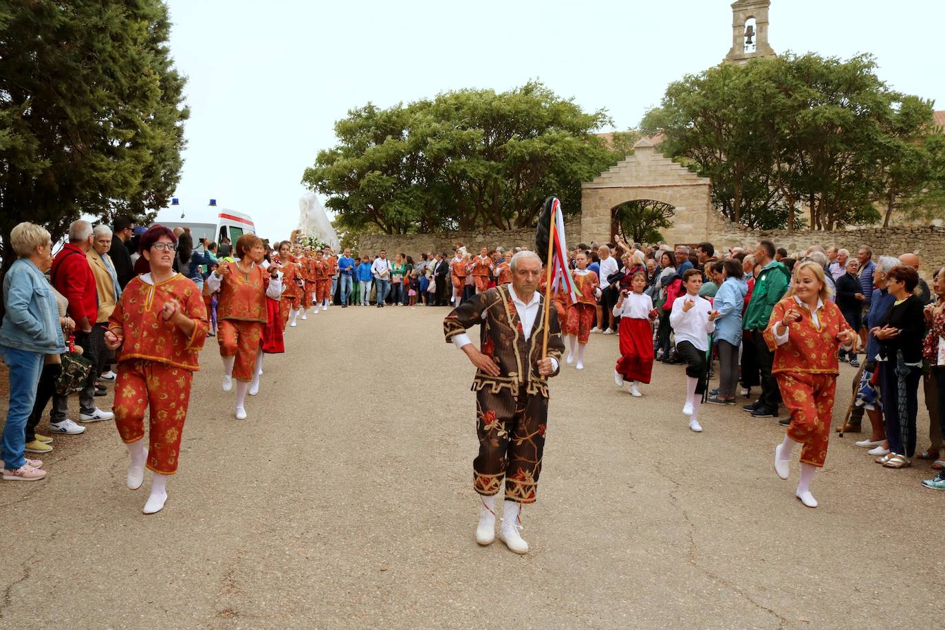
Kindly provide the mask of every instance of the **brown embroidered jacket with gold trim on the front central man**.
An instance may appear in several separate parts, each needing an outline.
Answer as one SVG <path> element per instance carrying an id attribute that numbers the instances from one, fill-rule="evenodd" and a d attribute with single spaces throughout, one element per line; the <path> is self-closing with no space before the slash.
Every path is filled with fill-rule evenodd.
<path id="1" fill-rule="evenodd" d="M 544 330 L 544 297 L 541 296 L 538 315 L 532 326 L 531 334 L 526 339 L 522 322 L 515 309 L 515 303 L 508 295 L 508 286 L 497 286 L 484 291 L 457 306 L 443 320 L 443 332 L 446 341 L 453 343 L 457 334 L 467 332 L 472 326 L 480 325 L 479 349 L 492 357 L 499 366 L 501 374 L 490 376 L 482 370 L 476 370 L 472 380 L 472 390 L 479 391 L 490 387 L 493 393 L 507 387 L 512 396 L 518 396 L 520 388 L 526 394 L 541 394 L 548 398 L 548 380 L 538 374 L 536 364 L 541 360 L 541 338 Z M 554 357 L 560 366 L 564 341 L 558 314 L 552 309 L 548 319 L 548 356 Z M 552 376 L 556 376 L 556 370 Z"/>

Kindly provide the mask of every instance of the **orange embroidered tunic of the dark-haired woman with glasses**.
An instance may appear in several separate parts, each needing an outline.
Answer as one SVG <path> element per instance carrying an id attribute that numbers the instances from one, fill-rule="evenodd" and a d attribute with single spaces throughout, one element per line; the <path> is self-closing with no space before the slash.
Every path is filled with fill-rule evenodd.
<path id="1" fill-rule="evenodd" d="M 164 303 L 170 299 L 177 300 L 180 312 L 196 322 L 192 334 L 184 334 L 176 324 L 161 318 Z M 119 363 L 144 359 L 197 371 L 200 349 L 209 330 L 207 307 L 197 285 L 181 274 L 158 284 L 137 276 L 125 287 L 112 311 L 109 330 L 125 337 Z"/>

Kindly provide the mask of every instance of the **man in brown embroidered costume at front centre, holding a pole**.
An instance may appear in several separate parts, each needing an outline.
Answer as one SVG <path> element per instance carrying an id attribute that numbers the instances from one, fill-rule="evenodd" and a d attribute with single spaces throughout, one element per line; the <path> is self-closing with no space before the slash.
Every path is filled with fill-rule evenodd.
<path id="1" fill-rule="evenodd" d="M 548 320 L 548 356 L 541 357 L 544 299 L 537 292 L 541 259 L 530 251 L 512 257 L 511 284 L 477 294 L 443 321 L 446 341 L 476 366 L 476 433 L 479 455 L 472 462 L 473 487 L 482 500 L 476 541 L 495 538 L 495 495 L 505 478 L 506 501 L 499 538 L 515 553 L 527 553 L 520 535 L 522 503 L 535 502 L 548 416 L 548 377 L 558 374 L 564 342 L 558 314 Z M 480 325 L 480 349 L 468 329 Z"/>

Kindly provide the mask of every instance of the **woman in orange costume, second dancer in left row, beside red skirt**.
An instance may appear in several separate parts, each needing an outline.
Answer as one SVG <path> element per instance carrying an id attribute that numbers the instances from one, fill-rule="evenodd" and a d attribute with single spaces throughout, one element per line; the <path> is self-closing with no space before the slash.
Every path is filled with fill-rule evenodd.
<path id="1" fill-rule="evenodd" d="M 249 382 L 261 368 L 263 326 L 266 324 L 266 297 L 278 299 L 283 292 L 282 273 L 275 266 L 270 271 L 261 264 L 266 247 L 255 234 L 243 234 L 236 241 L 238 260 L 221 263 L 207 276 L 215 290 L 217 304 L 217 340 L 223 357 L 223 391 L 232 389 L 236 379 L 236 418 L 246 417 Z"/>

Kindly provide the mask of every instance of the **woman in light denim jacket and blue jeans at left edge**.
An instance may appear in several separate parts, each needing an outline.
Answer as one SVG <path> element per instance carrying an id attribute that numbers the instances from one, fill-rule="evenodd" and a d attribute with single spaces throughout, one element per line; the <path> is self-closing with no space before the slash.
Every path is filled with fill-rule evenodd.
<path id="1" fill-rule="evenodd" d="M 3 281 L 7 309 L 0 326 L 0 354 L 9 366 L 9 411 L 0 440 L 3 478 L 37 481 L 46 471 L 38 459 L 23 456 L 26 419 L 33 410 L 36 387 L 43 371 L 43 356 L 65 351 L 56 298 L 43 272 L 52 265 L 49 232 L 32 223 L 21 223 L 10 232 L 10 245 L 19 259 Z"/>

